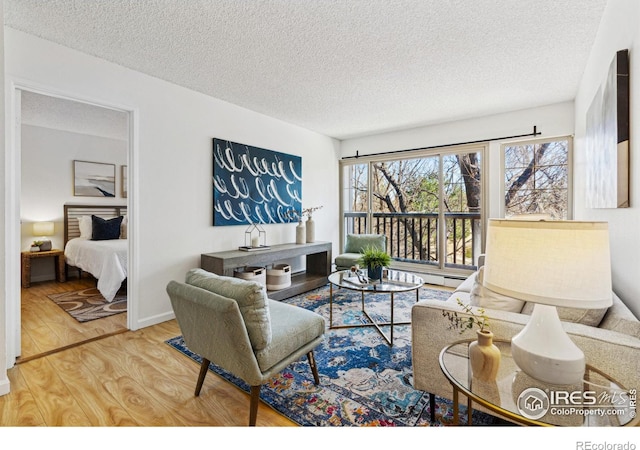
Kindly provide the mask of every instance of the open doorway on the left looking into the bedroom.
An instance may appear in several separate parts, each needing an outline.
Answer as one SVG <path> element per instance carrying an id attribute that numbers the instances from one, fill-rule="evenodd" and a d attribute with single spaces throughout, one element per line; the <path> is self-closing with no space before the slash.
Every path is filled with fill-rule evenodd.
<path id="1" fill-rule="evenodd" d="M 16 89 L 16 97 L 20 253 L 29 252 L 40 240 L 50 240 L 53 250 L 64 252 L 66 205 L 116 206 L 128 216 L 132 113 L 24 88 Z M 79 164 L 99 169 L 97 176 L 83 176 Z M 77 219 L 72 220 L 77 226 Z M 53 223 L 50 236 L 34 234 L 34 225 L 42 222 Z M 26 257 L 28 279 L 23 264 L 20 304 L 14 314 L 19 327 L 16 363 L 130 329 L 126 261 L 132 236 L 124 226 L 119 237 L 125 241 L 125 277 L 113 296 L 105 294 L 88 271 L 74 268 L 61 274 L 57 257 L 45 253 Z"/>

